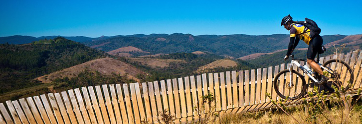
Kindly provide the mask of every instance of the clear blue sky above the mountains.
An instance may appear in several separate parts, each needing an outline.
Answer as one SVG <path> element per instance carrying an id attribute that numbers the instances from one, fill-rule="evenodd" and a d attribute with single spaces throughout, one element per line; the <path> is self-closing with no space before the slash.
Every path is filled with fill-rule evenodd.
<path id="1" fill-rule="evenodd" d="M 288 14 L 313 19 L 322 35 L 362 34 L 362 0 L 297 1 L 0 0 L 0 37 L 288 34 L 280 26 Z"/>

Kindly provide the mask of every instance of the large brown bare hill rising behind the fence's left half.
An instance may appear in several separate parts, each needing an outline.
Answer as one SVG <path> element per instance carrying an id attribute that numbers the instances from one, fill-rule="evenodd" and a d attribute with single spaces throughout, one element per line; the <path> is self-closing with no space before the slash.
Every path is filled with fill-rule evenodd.
<path id="1" fill-rule="evenodd" d="M 102 74 L 111 74 L 112 72 L 115 72 L 116 74 L 125 75 L 127 73 L 128 78 L 135 79 L 137 81 L 139 81 L 139 79 L 136 78 L 136 75 L 139 73 L 145 73 L 126 62 L 121 62 L 112 58 L 102 58 L 65 68 L 61 71 L 56 71 L 50 73 L 49 75 L 44 75 L 35 79 L 44 83 L 49 83 L 58 77 L 74 77 L 86 68 L 90 70 L 97 70 Z"/>

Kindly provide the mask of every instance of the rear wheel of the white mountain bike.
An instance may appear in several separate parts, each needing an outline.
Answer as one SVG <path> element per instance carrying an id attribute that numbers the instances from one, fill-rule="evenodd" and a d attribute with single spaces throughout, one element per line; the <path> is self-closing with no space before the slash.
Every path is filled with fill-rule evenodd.
<path id="1" fill-rule="evenodd" d="M 331 82 L 332 85 L 340 89 L 341 91 L 346 91 L 351 88 L 354 80 L 354 75 L 350 65 L 346 62 L 333 59 L 323 63 L 324 67 L 323 73 L 327 73 L 327 76 L 330 78 L 328 82 Z"/>

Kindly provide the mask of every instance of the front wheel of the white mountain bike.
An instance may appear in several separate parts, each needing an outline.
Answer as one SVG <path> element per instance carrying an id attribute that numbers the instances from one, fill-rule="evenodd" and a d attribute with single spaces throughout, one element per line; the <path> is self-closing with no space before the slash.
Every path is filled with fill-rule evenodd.
<path id="1" fill-rule="evenodd" d="M 292 71 L 292 86 L 290 86 L 289 69 L 280 71 L 274 77 L 274 90 L 282 99 L 294 100 L 303 97 L 306 92 L 307 85 L 304 76 L 299 72 Z"/>

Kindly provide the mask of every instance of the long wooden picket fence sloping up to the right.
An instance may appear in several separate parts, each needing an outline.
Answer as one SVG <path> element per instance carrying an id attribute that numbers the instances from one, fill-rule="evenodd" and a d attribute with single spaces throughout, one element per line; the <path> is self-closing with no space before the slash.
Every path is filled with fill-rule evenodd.
<path id="1" fill-rule="evenodd" d="M 337 56 L 320 60 L 323 63 L 333 58 Z M 338 58 L 354 68 L 356 85 L 353 88 L 360 88 L 362 52 L 341 54 Z M 203 73 L 142 84 L 89 86 L 6 101 L 0 103 L 0 124 L 140 124 L 142 120 L 159 123 L 160 112 L 164 110 L 175 116 L 175 123 L 190 123 L 199 118 L 194 107 L 209 93 L 214 95 L 215 102 L 211 104 L 216 112 L 270 110 L 275 106 L 266 93 L 271 94 L 273 100 L 278 99 L 272 86 L 273 77 L 288 66 Z M 305 79 L 310 82 L 307 76 Z M 307 90 L 313 91 L 309 87 Z M 293 105 L 297 101 L 289 103 Z M 208 109 L 211 108 L 206 103 Z"/>

